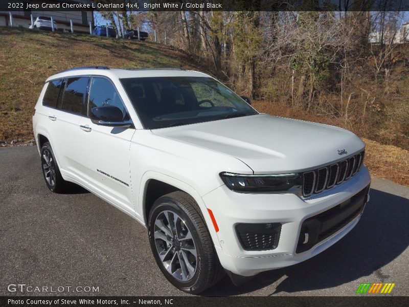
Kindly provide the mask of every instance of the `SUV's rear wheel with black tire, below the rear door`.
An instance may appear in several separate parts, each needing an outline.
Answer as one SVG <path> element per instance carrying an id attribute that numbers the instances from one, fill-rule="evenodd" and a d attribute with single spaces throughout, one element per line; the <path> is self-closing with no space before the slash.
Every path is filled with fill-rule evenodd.
<path id="1" fill-rule="evenodd" d="M 54 193 L 61 193 L 69 188 L 70 183 L 62 179 L 60 169 L 55 160 L 54 151 L 49 142 L 41 146 L 41 169 L 47 187 Z M 47 161 L 49 158 L 49 162 Z"/>

